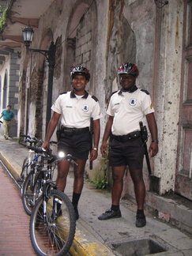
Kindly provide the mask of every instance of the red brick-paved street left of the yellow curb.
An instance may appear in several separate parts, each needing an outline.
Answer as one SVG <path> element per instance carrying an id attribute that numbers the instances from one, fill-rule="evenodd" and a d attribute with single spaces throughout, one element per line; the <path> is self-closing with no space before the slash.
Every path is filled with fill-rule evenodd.
<path id="1" fill-rule="evenodd" d="M 29 216 L 20 190 L 0 164 L 0 255 L 36 255 L 29 238 Z"/>

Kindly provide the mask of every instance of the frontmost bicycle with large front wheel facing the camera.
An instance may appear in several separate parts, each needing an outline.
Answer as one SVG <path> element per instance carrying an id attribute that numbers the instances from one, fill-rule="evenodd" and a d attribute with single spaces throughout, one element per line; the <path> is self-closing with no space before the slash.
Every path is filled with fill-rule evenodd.
<path id="1" fill-rule="evenodd" d="M 51 178 L 51 165 L 59 159 L 66 159 L 77 164 L 71 155 L 62 158 L 44 152 L 43 149 L 29 147 L 42 154 L 41 168 L 42 194 L 36 201 L 30 217 L 30 239 L 36 254 L 40 256 L 66 255 L 73 243 L 76 229 L 76 218 L 70 198 L 62 191 L 57 190 Z"/>

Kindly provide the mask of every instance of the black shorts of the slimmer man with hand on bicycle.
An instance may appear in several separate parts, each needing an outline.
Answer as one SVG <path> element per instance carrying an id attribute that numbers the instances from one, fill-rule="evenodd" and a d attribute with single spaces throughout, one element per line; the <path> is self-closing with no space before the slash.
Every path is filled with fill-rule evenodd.
<path id="1" fill-rule="evenodd" d="M 87 160 L 88 152 L 90 150 L 90 134 L 73 134 L 67 136 L 61 134 L 58 141 L 58 152 L 63 151 L 65 154 L 71 154 L 77 159 Z"/>

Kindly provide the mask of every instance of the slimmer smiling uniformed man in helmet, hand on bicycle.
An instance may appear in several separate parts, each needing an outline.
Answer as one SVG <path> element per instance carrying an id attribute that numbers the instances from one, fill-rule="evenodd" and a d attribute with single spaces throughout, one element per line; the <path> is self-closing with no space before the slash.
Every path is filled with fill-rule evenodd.
<path id="1" fill-rule="evenodd" d="M 90 118 L 93 118 L 93 147 L 90 152 L 89 160 L 96 160 L 98 154 L 98 145 L 100 140 L 100 105 L 95 96 L 91 96 L 85 91 L 85 86 L 90 79 L 89 71 L 83 66 L 76 66 L 70 72 L 73 80 L 73 91 L 64 92 L 55 101 L 51 107 L 54 111 L 47 128 L 47 135 L 43 143 L 43 148 L 49 148 L 49 141 L 58 125 L 61 122 L 60 136 L 58 139 L 58 152 L 63 151 L 77 157 L 77 164 L 74 165 L 73 182 L 73 208 L 76 213 L 76 219 L 79 217 L 77 204 L 81 197 L 81 191 L 84 185 L 85 163 L 88 159 L 90 150 Z M 65 190 L 66 177 L 70 168 L 68 160 L 58 162 L 58 190 Z"/>

